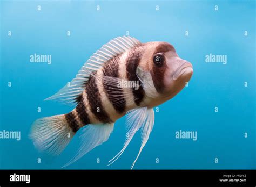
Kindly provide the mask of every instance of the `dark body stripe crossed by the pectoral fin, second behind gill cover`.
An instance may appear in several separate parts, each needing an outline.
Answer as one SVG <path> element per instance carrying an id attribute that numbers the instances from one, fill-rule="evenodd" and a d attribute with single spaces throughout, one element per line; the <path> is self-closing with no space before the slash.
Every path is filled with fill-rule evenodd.
<path id="1" fill-rule="evenodd" d="M 119 77 L 119 63 L 120 55 L 113 57 L 109 62 L 107 62 L 103 69 L 103 75 L 111 77 Z M 123 113 L 125 111 L 125 98 L 123 95 L 122 88 L 118 88 L 118 82 L 111 82 L 112 85 L 107 84 L 107 80 L 104 79 L 104 89 L 107 97 L 112 103 L 114 109 L 118 113 Z M 114 95 L 113 95 L 114 92 Z"/>

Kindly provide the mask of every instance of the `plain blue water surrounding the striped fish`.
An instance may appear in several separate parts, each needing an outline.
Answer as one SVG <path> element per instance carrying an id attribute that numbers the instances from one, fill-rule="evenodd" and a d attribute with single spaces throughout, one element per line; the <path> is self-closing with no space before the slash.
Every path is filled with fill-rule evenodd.
<path id="1" fill-rule="evenodd" d="M 21 131 L 20 141 L 0 139 L 1 169 L 59 169 L 71 159 L 77 138 L 52 158 L 33 147 L 31 124 L 71 111 L 43 100 L 100 46 L 127 31 L 142 42 L 170 42 L 194 69 L 188 87 L 159 106 L 134 169 L 255 169 L 255 1 L 1 1 L 0 15 L 0 130 Z M 51 55 L 51 64 L 31 63 L 35 53 Z M 227 55 L 227 63 L 206 62 L 210 54 Z M 109 141 L 66 169 L 130 169 L 140 133 L 106 166 L 123 147 L 124 122 L 119 119 Z M 197 140 L 176 139 L 179 130 L 196 131 Z"/>

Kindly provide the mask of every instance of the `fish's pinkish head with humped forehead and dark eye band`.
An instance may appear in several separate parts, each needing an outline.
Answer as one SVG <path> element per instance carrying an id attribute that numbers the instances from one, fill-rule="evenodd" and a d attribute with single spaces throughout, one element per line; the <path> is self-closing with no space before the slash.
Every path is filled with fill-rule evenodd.
<path id="1" fill-rule="evenodd" d="M 146 43 L 141 60 L 136 74 L 151 98 L 174 97 L 193 74 L 192 64 L 181 59 L 167 42 Z"/>

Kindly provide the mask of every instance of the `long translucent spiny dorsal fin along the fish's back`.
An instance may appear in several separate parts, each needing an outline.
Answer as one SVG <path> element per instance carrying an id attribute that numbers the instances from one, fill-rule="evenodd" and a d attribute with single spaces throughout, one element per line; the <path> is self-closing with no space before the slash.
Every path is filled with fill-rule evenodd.
<path id="1" fill-rule="evenodd" d="M 55 95 L 45 100 L 59 100 L 65 104 L 77 103 L 80 94 L 86 88 L 87 81 L 93 72 L 97 71 L 104 63 L 114 56 L 122 54 L 130 48 L 140 44 L 140 41 L 130 36 L 117 37 L 104 44 L 98 51 L 84 63 L 84 66 L 78 71 L 76 78 L 60 89 Z"/>

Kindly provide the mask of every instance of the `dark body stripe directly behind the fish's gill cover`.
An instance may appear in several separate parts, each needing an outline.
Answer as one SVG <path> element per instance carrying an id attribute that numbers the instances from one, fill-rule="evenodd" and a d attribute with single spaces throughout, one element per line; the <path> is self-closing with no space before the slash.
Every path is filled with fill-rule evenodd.
<path id="1" fill-rule="evenodd" d="M 143 44 L 140 44 L 133 49 L 131 49 L 127 61 L 126 61 L 126 75 L 129 81 L 139 81 L 139 78 L 136 75 L 136 69 L 139 65 L 140 59 L 143 54 L 142 46 Z M 142 83 L 139 81 L 139 85 Z M 132 88 L 133 96 L 134 96 L 134 102 L 137 106 L 139 106 L 140 102 L 142 102 L 144 97 L 144 90 L 141 86 L 139 86 L 139 89 L 136 90 L 135 88 Z"/>

